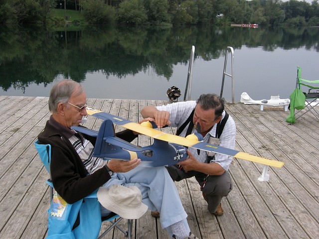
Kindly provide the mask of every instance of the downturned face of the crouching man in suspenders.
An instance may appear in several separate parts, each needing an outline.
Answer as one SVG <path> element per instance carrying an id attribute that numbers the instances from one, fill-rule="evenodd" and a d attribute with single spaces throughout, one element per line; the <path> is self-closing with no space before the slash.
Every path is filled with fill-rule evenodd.
<path id="1" fill-rule="evenodd" d="M 221 117 L 215 119 L 215 110 L 209 109 L 205 111 L 199 105 L 196 105 L 193 122 L 194 125 L 197 125 L 197 122 L 199 122 L 201 132 L 209 130 L 215 123 L 218 123 L 220 119 Z"/>

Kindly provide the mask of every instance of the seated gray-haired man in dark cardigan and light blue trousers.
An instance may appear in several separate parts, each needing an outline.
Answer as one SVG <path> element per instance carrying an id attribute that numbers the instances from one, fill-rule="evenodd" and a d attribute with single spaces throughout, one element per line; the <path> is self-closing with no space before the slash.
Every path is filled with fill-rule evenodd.
<path id="1" fill-rule="evenodd" d="M 107 162 L 103 158 L 93 157 L 96 138 L 71 129 L 87 116 L 86 93 L 79 83 L 72 80 L 57 83 L 50 92 L 48 105 L 52 116 L 38 139 L 43 144 L 51 145 L 52 183 L 67 203 L 73 204 L 102 186 L 134 185 L 141 190 L 143 203 L 152 211 L 160 211 L 161 227 L 170 236 L 175 239 L 197 239 L 190 232 L 187 214 L 165 167 L 141 167 L 141 159 L 138 158 Z M 137 137 L 128 129 L 117 133 L 117 136 L 127 141 Z M 109 213 L 101 208 L 102 216 Z"/>

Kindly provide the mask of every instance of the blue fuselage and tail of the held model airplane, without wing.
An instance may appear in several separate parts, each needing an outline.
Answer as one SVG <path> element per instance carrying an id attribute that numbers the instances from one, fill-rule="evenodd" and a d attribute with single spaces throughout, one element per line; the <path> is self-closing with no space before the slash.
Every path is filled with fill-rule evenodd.
<path id="1" fill-rule="evenodd" d="M 153 125 L 155 124 L 153 123 Z M 187 158 L 187 148 L 176 143 L 168 143 L 155 138 L 152 145 L 139 147 L 117 137 L 111 119 L 105 119 L 99 131 L 81 126 L 72 126 L 71 128 L 97 137 L 93 152 L 94 157 L 120 160 L 140 158 L 142 160 L 141 166 L 144 167 L 169 166 L 178 164 Z M 201 135 L 198 137 L 202 140 Z"/>

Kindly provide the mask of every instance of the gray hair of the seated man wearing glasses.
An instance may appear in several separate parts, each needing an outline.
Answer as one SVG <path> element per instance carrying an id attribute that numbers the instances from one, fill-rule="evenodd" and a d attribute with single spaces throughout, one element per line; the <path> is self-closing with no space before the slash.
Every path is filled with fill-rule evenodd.
<path id="1" fill-rule="evenodd" d="M 57 112 L 57 107 L 59 103 L 67 103 L 72 95 L 80 95 L 84 93 L 85 90 L 83 86 L 72 80 L 62 80 L 55 84 L 50 92 L 49 96 L 49 111 L 52 113 Z"/>

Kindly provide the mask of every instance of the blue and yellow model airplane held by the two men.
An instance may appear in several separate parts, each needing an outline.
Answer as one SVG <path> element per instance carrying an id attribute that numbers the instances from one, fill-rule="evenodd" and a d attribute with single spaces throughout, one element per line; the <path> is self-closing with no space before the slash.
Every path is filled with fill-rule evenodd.
<path id="1" fill-rule="evenodd" d="M 97 132 L 82 126 L 72 128 L 76 131 L 97 137 L 94 149 L 94 156 L 96 157 L 121 160 L 130 160 L 138 157 L 141 158 L 142 162 L 144 161 L 144 166 L 156 167 L 178 164 L 178 162 L 187 158 L 187 147 L 193 147 L 278 168 L 284 165 L 284 163 L 280 161 L 202 142 L 202 136 L 197 133 L 190 134 L 187 137 L 181 137 L 155 129 L 157 125 L 154 122 L 146 121 L 139 124 L 92 108 L 87 108 L 86 111 L 88 115 L 104 120 L 100 130 Z M 146 147 L 138 147 L 116 137 L 113 123 L 153 137 L 154 144 Z"/>

